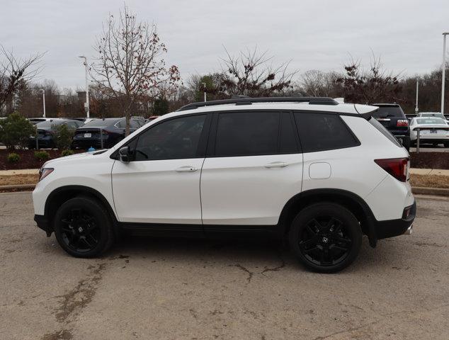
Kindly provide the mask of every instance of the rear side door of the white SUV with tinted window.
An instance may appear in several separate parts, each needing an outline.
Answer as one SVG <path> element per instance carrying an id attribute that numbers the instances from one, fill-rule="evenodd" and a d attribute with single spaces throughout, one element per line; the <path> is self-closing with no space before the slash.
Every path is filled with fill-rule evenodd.
<path id="1" fill-rule="evenodd" d="M 288 111 L 214 114 L 201 171 L 203 225 L 275 225 L 300 193 L 302 153 Z"/>

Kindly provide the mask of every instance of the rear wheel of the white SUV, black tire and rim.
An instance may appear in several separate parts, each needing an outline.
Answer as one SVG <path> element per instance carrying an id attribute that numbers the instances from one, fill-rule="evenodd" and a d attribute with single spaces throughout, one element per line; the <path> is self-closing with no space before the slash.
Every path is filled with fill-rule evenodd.
<path id="1" fill-rule="evenodd" d="M 334 273 L 356 259 L 362 231 L 356 217 L 343 206 L 314 203 L 297 214 L 288 239 L 290 249 L 305 267 Z"/>

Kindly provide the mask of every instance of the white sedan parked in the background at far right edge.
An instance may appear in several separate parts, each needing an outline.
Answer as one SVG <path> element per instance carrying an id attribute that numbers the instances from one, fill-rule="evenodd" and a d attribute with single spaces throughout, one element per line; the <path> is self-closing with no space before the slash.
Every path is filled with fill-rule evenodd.
<path id="1" fill-rule="evenodd" d="M 411 119 L 410 140 L 416 145 L 419 129 L 419 143 L 431 143 L 434 146 L 443 144 L 449 147 L 449 125 L 442 118 L 433 116 L 419 116 Z"/>

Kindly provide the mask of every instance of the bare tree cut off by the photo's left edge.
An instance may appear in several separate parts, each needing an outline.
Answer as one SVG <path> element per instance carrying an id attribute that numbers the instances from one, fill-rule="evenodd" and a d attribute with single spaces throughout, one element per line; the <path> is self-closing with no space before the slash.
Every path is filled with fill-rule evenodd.
<path id="1" fill-rule="evenodd" d="M 13 96 L 40 72 L 38 62 L 43 55 L 36 53 L 25 59 L 18 58 L 0 45 L 0 111 L 6 102 L 12 102 Z"/>

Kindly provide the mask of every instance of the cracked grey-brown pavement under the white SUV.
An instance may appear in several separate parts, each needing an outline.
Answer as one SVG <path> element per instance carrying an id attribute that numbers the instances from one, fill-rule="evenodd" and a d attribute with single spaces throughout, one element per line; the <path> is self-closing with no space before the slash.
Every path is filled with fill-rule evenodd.
<path id="1" fill-rule="evenodd" d="M 0 195 L 0 339 L 448 339 L 449 200 L 346 271 L 305 271 L 278 243 L 127 237 L 74 259 Z"/>

